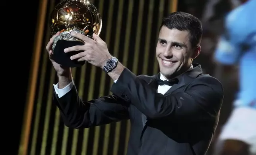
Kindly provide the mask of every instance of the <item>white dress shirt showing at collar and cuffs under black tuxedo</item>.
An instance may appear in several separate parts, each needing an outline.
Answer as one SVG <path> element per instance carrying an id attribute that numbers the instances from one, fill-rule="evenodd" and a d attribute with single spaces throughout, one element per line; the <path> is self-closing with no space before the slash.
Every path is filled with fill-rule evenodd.
<path id="1" fill-rule="evenodd" d="M 188 70 L 192 70 L 193 69 L 193 66 L 191 64 L 190 68 Z M 160 79 L 161 80 L 167 80 L 162 73 L 160 73 Z M 114 80 L 114 83 L 116 83 L 118 79 Z M 68 93 L 72 87 L 74 86 L 74 80 L 72 79 L 72 82 L 70 82 L 66 87 L 62 88 L 62 89 L 58 89 L 58 83 L 56 85 L 53 85 L 54 86 L 54 90 L 56 92 L 56 94 L 58 95 L 58 97 L 62 97 L 64 96 L 66 93 Z M 160 94 L 165 94 L 169 89 L 171 88 L 171 86 L 169 85 L 158 85 L 158 88 L 157 88 L 157 93 L 160 93 Z"/>

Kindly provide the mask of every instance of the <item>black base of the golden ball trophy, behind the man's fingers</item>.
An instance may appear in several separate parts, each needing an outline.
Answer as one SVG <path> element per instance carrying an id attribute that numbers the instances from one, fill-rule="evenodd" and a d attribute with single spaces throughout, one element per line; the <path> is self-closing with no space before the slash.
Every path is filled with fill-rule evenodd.
<path id="1" fill-rule="evenodd" d="M 65 67 L 81 67 L 85 64 L 85 61 L 78 61 L 78 59 L 71 60 L 70 57 L 72 55 L 76 55 L 83 51 L 71 51 L 68 53 L 64 52 L 65 48 L 76 46 L 76 45 L 84 45 L 84 43 L 80 41 L 67 41 L 67 40 L 58 40 L 56 46 L 53 51 L 53 60 L 58 64 Z"/>

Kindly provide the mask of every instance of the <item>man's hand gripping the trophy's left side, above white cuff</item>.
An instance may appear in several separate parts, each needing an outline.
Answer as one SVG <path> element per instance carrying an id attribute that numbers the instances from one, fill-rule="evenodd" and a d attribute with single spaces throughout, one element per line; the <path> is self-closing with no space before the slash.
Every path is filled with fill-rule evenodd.
<path id="1" fill-rule="evenodd" d="M 52 62 L 52 66 L 54 67 L 58 75 L 58 79 L 59 79 L 58 88 L 62 89 L 72 81 L 72 74 L 71 74 L 70 68 L 63 67 L 52 59 L 52 55 L 54 54 L 52 51 L 53 39 L 59 34 L 60 32 L 57 32 L 55 35 L 53 35 L 52 38 L 50 38 L 50 41 L 47 43 L 47 46 L 45 48 L 48 52 L 49 59 Z"/>

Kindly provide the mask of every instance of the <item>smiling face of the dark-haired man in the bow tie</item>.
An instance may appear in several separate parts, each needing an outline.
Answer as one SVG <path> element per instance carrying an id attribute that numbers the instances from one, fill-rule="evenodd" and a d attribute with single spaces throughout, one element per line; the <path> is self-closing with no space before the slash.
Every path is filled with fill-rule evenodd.
<path id="1" fill-rule="evenodd" d="M 173 78 L 185 72 L 192 60 L 199 55 L 200 46 L 192 49 L 190 33 L 163 26 L 159 32 L 156 56 L 160 72 L 165 78 Z"/>

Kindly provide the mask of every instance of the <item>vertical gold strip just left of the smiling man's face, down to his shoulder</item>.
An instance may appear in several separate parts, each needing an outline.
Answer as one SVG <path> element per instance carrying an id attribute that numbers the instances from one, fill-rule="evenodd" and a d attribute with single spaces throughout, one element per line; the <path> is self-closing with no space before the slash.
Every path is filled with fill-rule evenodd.
<path id="1" fill-rule="evenodd" d="M 154 31 L 154 30 L 152 30 L 153 11 L 154 11 L 154 0 L 150 0 L 149 1 L 149 12 L 147 14 L 147 29 L 146 29 L 147 32 L 146 32 L 146 41 L 145 41 L 145 45 L 144 45 L 145 51 L 144 51 L 144 62 L 143 62 L 142 74 L 147 74 L 151 32 Z"/>

